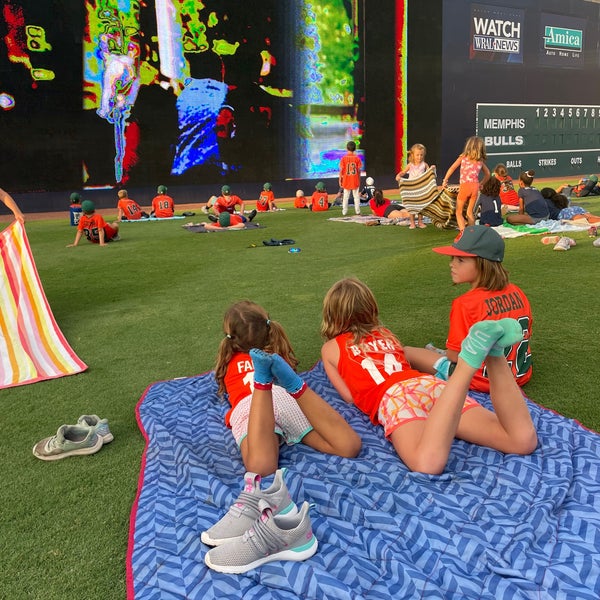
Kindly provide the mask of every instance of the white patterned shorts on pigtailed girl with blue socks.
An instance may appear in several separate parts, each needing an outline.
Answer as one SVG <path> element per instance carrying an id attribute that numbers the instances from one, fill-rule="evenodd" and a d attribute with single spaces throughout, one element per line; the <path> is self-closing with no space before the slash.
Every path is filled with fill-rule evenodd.
<path id="1" fill-rule="evenodd" d="M 238 447 L 248 435 L 248 419 L 252 395 L 246 396 L 233 409 L 229 422 L 233 439 Z M 282 387 L 273 386 L 273 412 L 275 413 L 275 433 L 291 446 L 302 441 L 302 438 L 313 430 L 295 398 L 290 396 Z"/>

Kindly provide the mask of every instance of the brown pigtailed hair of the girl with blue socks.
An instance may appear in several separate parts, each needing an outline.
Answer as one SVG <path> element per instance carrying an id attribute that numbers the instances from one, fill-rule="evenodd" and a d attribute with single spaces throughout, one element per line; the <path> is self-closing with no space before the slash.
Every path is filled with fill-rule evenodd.
<path id="1" fill-rule="evenodd" d="M 249 352 L 251 348 L 279 354 L 293 369 L 298 360 L 283 327 L 269 318 L 267 311 L 250 300 L 232 304 L 223 317 L 225 337 L 217 350 L 215 379 L 220 396 L 226 393 L 225 373 L 236 352 Z"/>

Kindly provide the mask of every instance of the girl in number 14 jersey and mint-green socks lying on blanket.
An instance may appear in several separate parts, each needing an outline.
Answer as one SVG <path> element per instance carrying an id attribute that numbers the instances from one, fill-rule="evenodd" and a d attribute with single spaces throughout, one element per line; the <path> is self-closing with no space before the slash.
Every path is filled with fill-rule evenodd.
<path id="1" fill-rule="evenodd" d="M 504 349 L 523 335 L 514 319 L 473 325 L 447 382 L 411 367 L 400 341 L 381 324 L 373 293 L 358 279 L 342 279 L 327 292 L 321 334 L 331 383 L 383 425 L 411 471 L 442 473 L 455 437 L 506 453 L 535 450 L 533 422 L 504 358 Z M 483 362 L 495 412 L 467 396 Z"/>

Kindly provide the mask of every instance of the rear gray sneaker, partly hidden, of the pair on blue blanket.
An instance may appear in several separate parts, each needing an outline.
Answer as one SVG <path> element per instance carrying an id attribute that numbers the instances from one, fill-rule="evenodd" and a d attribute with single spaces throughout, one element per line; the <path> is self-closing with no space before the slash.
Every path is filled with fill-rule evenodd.
<path id="1" fill-rule="evenodd" d="M 243 491 L 225 516 L 210 529 L 203 531 L 200 539 L 207 546 L 219 546 L 241 538 L 260 516 L 260 500 L 264 500 L 275 515 L 291 517 L 298 514 L 298 507 L 285 485 L 285 471 L 286 469 L 277 469 L 272 485 L 266 490 L 260 489 L 260 475 L 246 473 Z"/>

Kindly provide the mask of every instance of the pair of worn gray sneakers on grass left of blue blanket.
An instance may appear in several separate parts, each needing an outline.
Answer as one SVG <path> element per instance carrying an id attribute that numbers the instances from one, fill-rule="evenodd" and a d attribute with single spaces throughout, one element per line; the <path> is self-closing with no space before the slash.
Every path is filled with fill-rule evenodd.
<path id="1" fill-rule="evenodd" d="M 95 454 L 114 439 L 108 421 L 98 415 L 81 415 L 76 425 L 61 425 L 56 435 L 40 440 L 33 455 L 40 460 Z"/>

